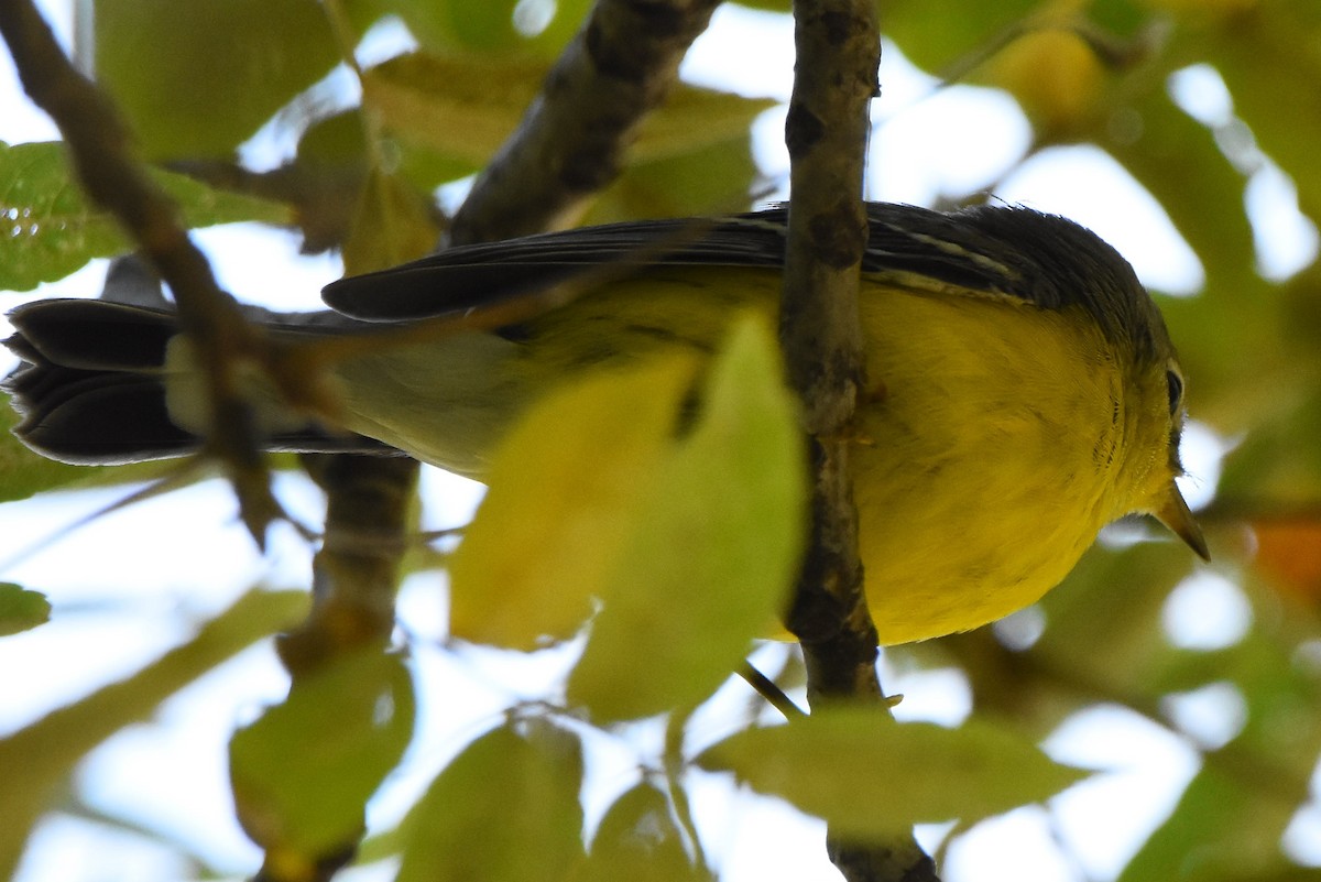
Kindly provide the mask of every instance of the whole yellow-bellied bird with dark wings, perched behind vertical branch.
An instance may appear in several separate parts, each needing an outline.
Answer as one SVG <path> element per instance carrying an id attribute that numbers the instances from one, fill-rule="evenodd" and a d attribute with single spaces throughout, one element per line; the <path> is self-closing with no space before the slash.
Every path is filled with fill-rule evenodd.
<path id="1" fill-rule="evenodd" d="M 452 248 L 329 285 L 334 313 L 271 333 L 361 334 L 557 284 L 569 302 L 336 363 L 341 425 L 256 384 L 272 449 L 399 449 L 480 478 L 530 401 L 602 366 L 715 351 L 733 316 L 777 309 L 787 209 L 649 220 Z M 852 454 L 882 642 L 978 627 L 1037 601 L 1116 518 L 1162 520 L 1198 555 L 1174 486 L 1184 378 L 1124 259 L 1059 217 L 868 206 L 861 325 L 878 393 Z M 168 308 L 54 300 L 16 309 L 9 379 L 34 450 L 78 463 L 197 449 L 206 419 Z M 608 440 L 602 440 L 608 444 Z M 584 463 L 584 469 L 590 469 Z"/>

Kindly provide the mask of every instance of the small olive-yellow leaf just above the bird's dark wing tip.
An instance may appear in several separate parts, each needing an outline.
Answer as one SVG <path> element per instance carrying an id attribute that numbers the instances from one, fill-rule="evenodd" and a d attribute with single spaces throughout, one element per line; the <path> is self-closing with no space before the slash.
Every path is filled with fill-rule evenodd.
<path id="1" fill-rule="evenodd" d="M 343 243 L 345 275 L 398 267 L 431 252 L 440 238 L 427 199 L 392 174 L 371 172 Z"/>

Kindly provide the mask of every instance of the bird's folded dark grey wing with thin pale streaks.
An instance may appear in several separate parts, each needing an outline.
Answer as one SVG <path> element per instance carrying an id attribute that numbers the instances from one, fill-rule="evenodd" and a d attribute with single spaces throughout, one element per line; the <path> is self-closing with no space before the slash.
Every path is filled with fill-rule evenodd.
<path id="1" fill-rule="evenodd" d="M 588 272 L 617 277 L 657 265 L 775 268 L 785 260 L 787 217 L 786 206 L 774 206 L 462 246 L 342 279 L 322 294 L 332 309 L 353 318 L 407 321 L 491 306 Z M 1132 306 L 1116 300 L 1145 297 L 1128 264 L 1092 232 L 1065 218 L 1008 206 L 941 213 L 868 203 L 863 272 L 894 285 L 1005 296 L 1048 309 L 1081 304 L 1106 321 L 1116 306 L 1118 313 Z M 1090 300 L 1098 290 L 1110 300 Z"/>

